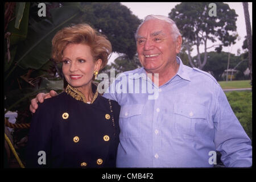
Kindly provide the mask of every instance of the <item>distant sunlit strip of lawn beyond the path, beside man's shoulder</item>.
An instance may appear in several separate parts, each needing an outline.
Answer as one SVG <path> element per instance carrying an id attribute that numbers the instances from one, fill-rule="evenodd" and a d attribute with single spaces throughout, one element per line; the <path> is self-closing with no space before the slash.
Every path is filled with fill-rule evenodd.
<path id="1" fill-rule="evenodd" d="M 242 89 L 251 88 L 250 80 L 237 80 L 237 81 L 218 81 L 222 89 Z"/>

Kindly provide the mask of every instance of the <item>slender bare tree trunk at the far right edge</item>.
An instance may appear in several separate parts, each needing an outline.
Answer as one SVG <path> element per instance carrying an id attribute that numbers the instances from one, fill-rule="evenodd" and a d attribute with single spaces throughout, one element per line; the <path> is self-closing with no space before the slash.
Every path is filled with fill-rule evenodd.
<path id="1" fill-rule="evenodd" d="M 253 71 L 251 69 L 251 64 L 252 64 L 252 40 L 251 40 L 251 23 L 250 23 L 250 15 L 249 15 L 249 10 L 248 10 L 248 3 L 243 2 L 243 12 L 245 14 L 245 25 L 246 25 L 246 39 L 247 39 L 247 46 L 248 46 L 248 51 L 249 51 L 249 69 L 250 69 L 250 79 L 251 79 L 251 84 L 253 81 Z"/>

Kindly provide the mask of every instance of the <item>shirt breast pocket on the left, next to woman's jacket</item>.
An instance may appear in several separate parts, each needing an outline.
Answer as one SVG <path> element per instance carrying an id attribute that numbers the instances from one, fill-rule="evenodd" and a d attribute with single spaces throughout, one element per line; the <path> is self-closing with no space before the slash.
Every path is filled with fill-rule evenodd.
<path id="1" fill-rule="evenodd" d="M 143 105 L 121 106 L 119 115 L 120 137 L 139 137 Z"/>

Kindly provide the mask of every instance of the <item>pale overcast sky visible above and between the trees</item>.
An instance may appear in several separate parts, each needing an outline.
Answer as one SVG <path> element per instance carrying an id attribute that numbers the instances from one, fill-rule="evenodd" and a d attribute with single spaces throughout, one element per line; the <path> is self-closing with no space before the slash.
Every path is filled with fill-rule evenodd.
<path id="1" fill-rule="evenodd" d="M 125 5 L 126 7 L 128 7 L 134 15 L 138 16 L 139 19 L 144 19 L 149 14 L 168 16 L 171 10 L 179 3 L 180 2 L 121 2 L 122 5 Z M 238 48 L 241 49 L 241 53 L 243 52 L 242 44 L 243 44 L 243 40 L 245 40 L 245 35 L 246 35 L 243 5 L 242 5 L 242 2 L 224 2 L 224 3 L 227 3 L 230 9 L 234 9 L 236 11 L 236 14 L 238 15 L 237 22 L 236 22 L 237 33 L 241 39 L 239 41 L 236 40 L 236 44 L 234 44 L 230 48 L 223 47 L 222 51 L 229 52 L 230 50 L 232 53 L 237 55 Z M 250 14 L 251 28 L 253 28 L 251 2 L 249 2 L 249 14 Z M 210 41 L 208 41 L 207 44 L 208 44 L 208 47 L 213 45 Z M 214 48 L 208 49 L 208 51 L 214 51 Z M 194 51 L 192 52 L 192 56 L 195 56 L 196 54 L 197 54 L 196 48 L 194 48 Z M 113 53 L 109 59 L 109 64 L 112 63 L 116 57 L 118 57 L 118 54 Z"/>

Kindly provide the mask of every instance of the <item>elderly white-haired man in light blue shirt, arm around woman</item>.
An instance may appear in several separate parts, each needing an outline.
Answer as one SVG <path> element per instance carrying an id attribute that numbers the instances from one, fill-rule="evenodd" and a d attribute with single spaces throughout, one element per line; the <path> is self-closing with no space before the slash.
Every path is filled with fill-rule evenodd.
<path id="1" fill-rule="evenodd" d="M 176 56 L 182 43 L 176 24 L 148 15 L 135 38 L 143 67 L 124 72 L 104 94 L 121 105 L 117 167 L 213 167 L 216 151 L 226 167 L 250 167 L 251 141 L 220 85 Z M 148 73 L 151 79 L 143 76 Z M 125 77 L 132 80 L 127 86 L 146 79 L 157 97 L 112 92 Z M 31 101 L 32 112 L 44 97 L 41 93 Z"/>

